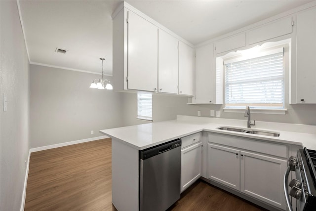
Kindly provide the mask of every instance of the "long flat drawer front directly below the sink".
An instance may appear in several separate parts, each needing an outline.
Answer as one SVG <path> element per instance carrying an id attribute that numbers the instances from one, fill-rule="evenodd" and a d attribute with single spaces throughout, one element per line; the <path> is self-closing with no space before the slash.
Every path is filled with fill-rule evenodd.
<path id="1" fill-rule="evenodd" d="M 208 141 L 216 144 L 236 147 L 239 149 L 245 149 L 287 159 L 288 146 L 285 144 L 282 145 L 277 143 L 265 142 L 264 140 L 216 133 L 209 133 Z"/>

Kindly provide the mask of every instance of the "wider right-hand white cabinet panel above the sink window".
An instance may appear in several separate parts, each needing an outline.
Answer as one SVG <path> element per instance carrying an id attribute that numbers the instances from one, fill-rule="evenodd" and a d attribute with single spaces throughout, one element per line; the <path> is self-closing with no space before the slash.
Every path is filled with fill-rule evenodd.
<path id="1" fill-rule="evenodd" d="M 250 30 L 247 33 L 248 44 L 267 41 L 290 33 L 292 33 L 292 17 L 278 19 L 256 29 Z"/>

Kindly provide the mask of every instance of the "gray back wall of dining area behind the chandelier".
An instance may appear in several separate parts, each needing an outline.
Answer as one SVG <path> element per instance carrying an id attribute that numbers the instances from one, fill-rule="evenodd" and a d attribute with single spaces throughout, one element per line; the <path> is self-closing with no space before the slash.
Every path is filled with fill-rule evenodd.
<path id="1" fill-rule="evenodd" d="M 100 77 L 31 65 L 31 148 L 97 137 L 100 129 L 123 125 L 122 94 L 89 88 Z"/>

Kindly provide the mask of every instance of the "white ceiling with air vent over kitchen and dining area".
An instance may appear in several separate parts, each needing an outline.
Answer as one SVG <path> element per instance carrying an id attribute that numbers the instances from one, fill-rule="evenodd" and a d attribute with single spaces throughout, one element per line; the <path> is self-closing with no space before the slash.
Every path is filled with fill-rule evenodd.
<path id="1" fill-rule="evenodd" d="M 192 44 L 311 0 L 126 0 Z M 112 75 L 112 19 L 121 0 L 19 0 L 30 62 Z M 56 53 L 56 48 L 68 50 Z"/>

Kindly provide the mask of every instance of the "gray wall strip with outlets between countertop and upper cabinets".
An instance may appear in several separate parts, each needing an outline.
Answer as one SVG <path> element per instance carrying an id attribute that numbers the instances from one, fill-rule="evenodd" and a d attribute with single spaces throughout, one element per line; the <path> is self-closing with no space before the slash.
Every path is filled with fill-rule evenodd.
<path id="1" fill-rule="evenodd" d="M 124 126 L 149 123 L 137 120 L 137 94 L 124 93 L 123 97 Z M 188 105 L 187 97 L 175 95 L 153 95 L 153 122 L 176 119 L 176 115 L 197 116 L 201 111 L 202 117 L 210 117 L 210 110 L 221 111 L 221 118 L 246 120 L 243 113 L 225 113 L 222 105 Z M 265 122 L 294 123 L 316 125 L 316 105 L 286 104 L 285 115 L 251 114 L 251 119 Z M 216 113 L 216 112 L 215 112 Z"/>

